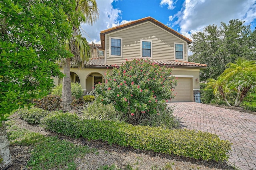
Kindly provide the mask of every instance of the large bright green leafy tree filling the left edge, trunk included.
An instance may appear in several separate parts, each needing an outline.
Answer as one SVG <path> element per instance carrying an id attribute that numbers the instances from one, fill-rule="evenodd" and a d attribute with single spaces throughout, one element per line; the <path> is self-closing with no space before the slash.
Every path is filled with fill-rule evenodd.
<path id="1" fill-rule="evenodd" d="M 52 76 L 62 76 L 62 45 L 71 35 L 66 21 L 72 0 L 0 1 L 0 169 L 11 162 L 4 121 L 8 114 L 32 98 L 48 94 Z"/>

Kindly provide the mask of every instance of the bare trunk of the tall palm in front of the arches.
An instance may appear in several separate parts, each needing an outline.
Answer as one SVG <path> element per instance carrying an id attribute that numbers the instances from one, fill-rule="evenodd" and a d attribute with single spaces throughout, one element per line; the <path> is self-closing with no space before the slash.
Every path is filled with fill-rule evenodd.
<path id="1" fill-rule="evenodd" d="M 71 110 L 72 94 L 71 94 L 71 80 L 70 80 L 70 58 L 66 58 L 64 62 L 64 78 L 62 82 L 62 96 L 61 106 L 64 111 Z"/>

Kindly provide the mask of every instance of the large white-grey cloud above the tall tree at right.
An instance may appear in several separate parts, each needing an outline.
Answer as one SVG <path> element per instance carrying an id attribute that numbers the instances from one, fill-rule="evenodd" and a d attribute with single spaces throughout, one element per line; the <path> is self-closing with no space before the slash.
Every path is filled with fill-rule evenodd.
<path id="1" fill-rule="evenodd" d="M 256 18 L 256 0 L 186 0 L 172 19 L 182 34 L 201 31 L 208 25 L 242 19 L 249 24 Z"/>

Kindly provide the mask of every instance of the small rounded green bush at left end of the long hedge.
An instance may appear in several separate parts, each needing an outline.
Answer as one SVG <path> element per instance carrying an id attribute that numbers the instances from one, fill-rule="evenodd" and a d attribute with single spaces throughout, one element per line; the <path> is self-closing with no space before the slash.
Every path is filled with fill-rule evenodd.
<path id="1" fill-rule="evenodd" d="M 40 119 L 49 114 L 47 110 L 41 108 L 32 107 L 28 108 L 21 108 L 16 111 L 16 113 L 20 116 L 21 119 L 25 120 L 29 124 L 36 124 L 40 123 Z"/>

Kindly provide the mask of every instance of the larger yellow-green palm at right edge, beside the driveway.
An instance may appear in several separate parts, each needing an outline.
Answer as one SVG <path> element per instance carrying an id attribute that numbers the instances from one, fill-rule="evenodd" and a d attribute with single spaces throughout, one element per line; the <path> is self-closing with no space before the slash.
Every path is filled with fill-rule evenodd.
<path id="1" fill-rule="evenodd" d="M 226 79 L 229 87 L 236 87 L 237 97 L 235 101 L 238 107 L 244 97 L 256 85 L 256 61 L 238 58 L 235 63 L 229 63 L 228 67 L 220 76 Z"/>

